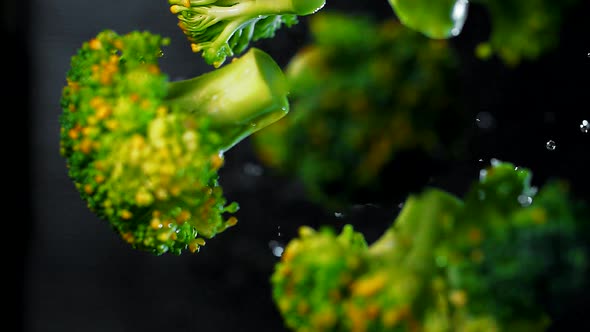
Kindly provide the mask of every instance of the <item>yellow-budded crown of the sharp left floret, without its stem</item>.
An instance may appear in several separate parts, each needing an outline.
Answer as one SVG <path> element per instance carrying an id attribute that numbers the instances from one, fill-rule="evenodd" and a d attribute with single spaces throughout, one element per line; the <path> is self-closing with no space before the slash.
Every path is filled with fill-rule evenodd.
<path id="1" fill-rule="evenodd" d="M 167 38 L 104 30 L 71 58 L 61 154 L 88 207 L 134 248 L 198 251 L 235 224 L 218 184 L 220 137 L 206 117 L 165 105 Z"/>

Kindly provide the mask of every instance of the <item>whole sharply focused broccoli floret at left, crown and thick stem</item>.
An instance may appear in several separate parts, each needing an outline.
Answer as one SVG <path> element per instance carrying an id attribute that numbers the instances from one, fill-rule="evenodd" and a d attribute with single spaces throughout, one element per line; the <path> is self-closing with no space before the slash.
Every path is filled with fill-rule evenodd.
<path id="1" fill-rule="evenodd" d="M 169 40 L 105 30 L 71 59 L 61 154 L 88 207 L 134 248 L 197 252 L 233 226 L 218 183 L 223 153 L 288 112 L 285 78 L 250 49 L 224 68 L 170 82 Z"/>

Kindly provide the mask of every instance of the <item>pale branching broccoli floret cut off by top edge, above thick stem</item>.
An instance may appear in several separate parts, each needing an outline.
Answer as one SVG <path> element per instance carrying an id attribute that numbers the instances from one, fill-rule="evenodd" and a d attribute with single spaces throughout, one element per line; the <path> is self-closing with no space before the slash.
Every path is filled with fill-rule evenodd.
<path id="1" fill-rule="evenodd" d="M 283 24 L 320 10 L 325 0 L 169 0 L 178 26 L 202 52 L 205 61 L 221 66 L 227 57 L 246 50 L 250 41 L 272 38 Z"/>

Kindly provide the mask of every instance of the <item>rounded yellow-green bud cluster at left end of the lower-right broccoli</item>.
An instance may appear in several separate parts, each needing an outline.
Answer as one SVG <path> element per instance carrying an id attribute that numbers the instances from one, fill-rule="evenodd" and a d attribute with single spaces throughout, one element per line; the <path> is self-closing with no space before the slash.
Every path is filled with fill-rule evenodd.
<path id="1" fill-rule="evenodd" d="M 339 235 L 331 228 L 316 232 L 302 227 L 299 233 L 300 238 L 292 240 L 283 252 L 284 263 L 277 266 L 272 277 L 273 297 L 288 327 L 313 321 L 309 331 L 315 331 L 314 326 L 318 331 L 336 328 L 342 321 L 342 313 L 334 310 L 336 304 L 349 293 L 350 281 L 367 270 L 363 256 L 367 244 L 350 225 Z M 304 285 L 315 287 L 306 289 Z"/>

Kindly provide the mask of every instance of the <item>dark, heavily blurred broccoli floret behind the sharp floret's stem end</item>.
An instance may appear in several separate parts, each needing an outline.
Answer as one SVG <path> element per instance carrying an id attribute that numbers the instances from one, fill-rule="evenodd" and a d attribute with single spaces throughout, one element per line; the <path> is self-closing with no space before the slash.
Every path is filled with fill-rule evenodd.
<path id="1" fill-rule="evenodd" d="M 324 10 L 308 22 L 312 41 L 285 70 L 292 111 L 252 136 L 256 155 L 328 208 L 405 190 L 382 177 L 399 154 L 452 151 L 462 130 L 455 53 L 393 19 Z"/>

